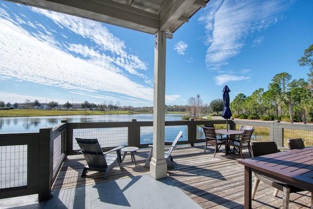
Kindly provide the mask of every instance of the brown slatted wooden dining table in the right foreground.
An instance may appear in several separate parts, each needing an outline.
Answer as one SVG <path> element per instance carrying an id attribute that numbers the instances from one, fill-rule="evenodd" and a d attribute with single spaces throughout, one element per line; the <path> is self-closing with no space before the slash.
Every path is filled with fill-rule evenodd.
<path id="1" fill-rule="evenodd" d="M 239 160 L 245 165 L 245 209 L 251 209 L 251 171 L 313 192 L 313 147 Z"/>

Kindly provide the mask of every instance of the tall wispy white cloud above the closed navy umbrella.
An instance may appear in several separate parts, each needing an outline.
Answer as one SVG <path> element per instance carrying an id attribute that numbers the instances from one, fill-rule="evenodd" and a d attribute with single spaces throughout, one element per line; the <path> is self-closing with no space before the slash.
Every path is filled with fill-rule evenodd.
<path id="1" fill-rule="evenodd" d="M 229 69 L 229 59 L 241 53 L 245 46 L 260 45 L 260 36 L 249 42 L 247 37 L 263 31 L 283 17 L 280 12 L 290 6 L 289 0 L 211 0 L 199 20 L 205 24 L 208 46 L 205 62 L 208 70 L 223 73 Z M 248 79 L 230 74 L 215 78 L 218 85 L 224 80 Z"/>

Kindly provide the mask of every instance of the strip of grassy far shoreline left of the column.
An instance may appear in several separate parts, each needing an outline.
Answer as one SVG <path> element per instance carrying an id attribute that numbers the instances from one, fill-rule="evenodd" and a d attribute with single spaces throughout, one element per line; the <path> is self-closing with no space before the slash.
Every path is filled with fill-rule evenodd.
<path id="1" fill-rule="evenodd" d="M 73 116 L 73 115 L 112 115 L 138 114 L 130 111 L 91 111 L 91 110 L 0 110 L 0 117 L 27 117 L 27 116 Z M 144 112 L 148 113 L 148 112 Z"/>

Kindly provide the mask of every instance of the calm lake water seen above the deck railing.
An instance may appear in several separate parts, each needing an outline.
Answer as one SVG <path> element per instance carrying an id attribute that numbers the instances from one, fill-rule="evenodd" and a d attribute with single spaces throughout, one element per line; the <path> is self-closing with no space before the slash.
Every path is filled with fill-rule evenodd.
<path id="1" fill-rule="evenodd" d="M 165 121 L 181 120 L 184 115 L 165 114 Z M 43 127 L 54 127 L 62 119 L 68 122 L 131 122 L 153 121 L 153 114 L 81 115 L 81 116 L 40 116 L 40 117 L 0 117 L 0 133 L 39 132 Z"/>

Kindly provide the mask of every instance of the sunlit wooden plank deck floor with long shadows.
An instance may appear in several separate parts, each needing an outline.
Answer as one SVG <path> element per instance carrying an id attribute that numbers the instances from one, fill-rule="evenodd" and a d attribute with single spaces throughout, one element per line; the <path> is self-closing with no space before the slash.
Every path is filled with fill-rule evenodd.
<path id="1" fill-rule="evenodd" d="M 223 147 L 222 147 L 223 148 Z M 178 186 L 203 209 L 244 208 L 244 166 L 237 161 L 240 155 L 225 156 L 223 152 L 213 157 L 213 148 L 209 146 L 203 154 L 203 144 L 194 147 L 178 146 L 172 152 L 175 168 L 168 170 L 168 179 Z M 117 180 L 149 174 L 149 168 L 143 167 L 149 149 L 140 149 L 135 153 L 137 166 L 131 161 L 128 153 L 122 170 L 116 166 L 106 181 Z M 248 157 L 247 150 L 244 156 Z M 104 182 L 103 173 L 89 171 L 87 178 L 81 178 L 85 164 L 83 155 L 68 156 L 52 189 L 66 189 L 78 186 L 92 185 Z M 260 183 L 253 209 L 282 208 L 282 192 L 278 196 L 272 195 L 273 188 Z M 292 193 L 290 195 L 290 209 L 304 209 L 311 207 L 310 192 Z"/>

